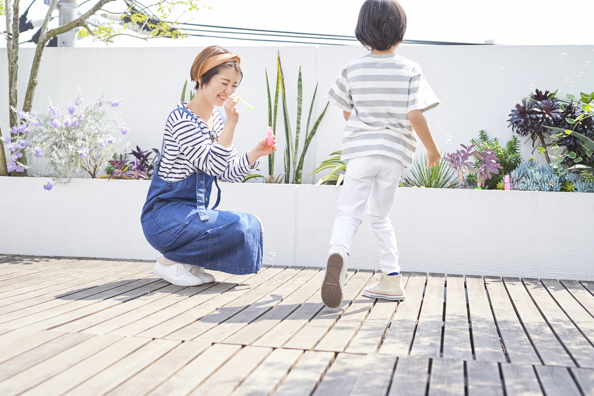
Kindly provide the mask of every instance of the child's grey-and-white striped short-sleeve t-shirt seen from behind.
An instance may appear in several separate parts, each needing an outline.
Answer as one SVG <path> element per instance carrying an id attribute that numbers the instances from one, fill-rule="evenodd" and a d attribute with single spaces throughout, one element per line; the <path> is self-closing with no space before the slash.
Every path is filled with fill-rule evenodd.
<path id="1" fill-rule="evenodd" d="M 341 159 L 381 154 L 410 169 L 416 136 L 408 112 L 440 104 L 421 67 L 403 56 L 368 54 L 343 68 L 326 98 L 350 112 Z"/>

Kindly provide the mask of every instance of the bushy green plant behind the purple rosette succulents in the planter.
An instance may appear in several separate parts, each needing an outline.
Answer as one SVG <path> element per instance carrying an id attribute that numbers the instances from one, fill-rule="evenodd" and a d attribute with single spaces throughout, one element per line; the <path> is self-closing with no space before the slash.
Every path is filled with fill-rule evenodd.
<path id="1" fill-rule="evenodd" d="M 495 153 L 498 158 L 498 162 L 503 169 L 499 174 L 493 174 L 491 179 L 485 180 L 484 189 L 495 189 L 497 185 L 503 180 L 504 175 L 508 175 L 511 171 L 517 168 L 522 162 L 522 154 L 520 153 L 520 139 L 517 135 L 513 135 L 510 140 L 501 146 L 499 139 L 494 137 L 489 138 L 489 135 L 485 130 L 479 131 L 479 137 L 476 139 L 470 139 L 470 143 L 476 144 L 476 149 L 479 152 L 491 151 Z M 475 156 L 475 168 L 478 168 L 482 164 L 482 159 Z M 469 174 L 466 178 L 469 184 L 474 186 L 477 185 L 476 173 Z M 500 188 L 501 190 L 501 188 Z"/>

